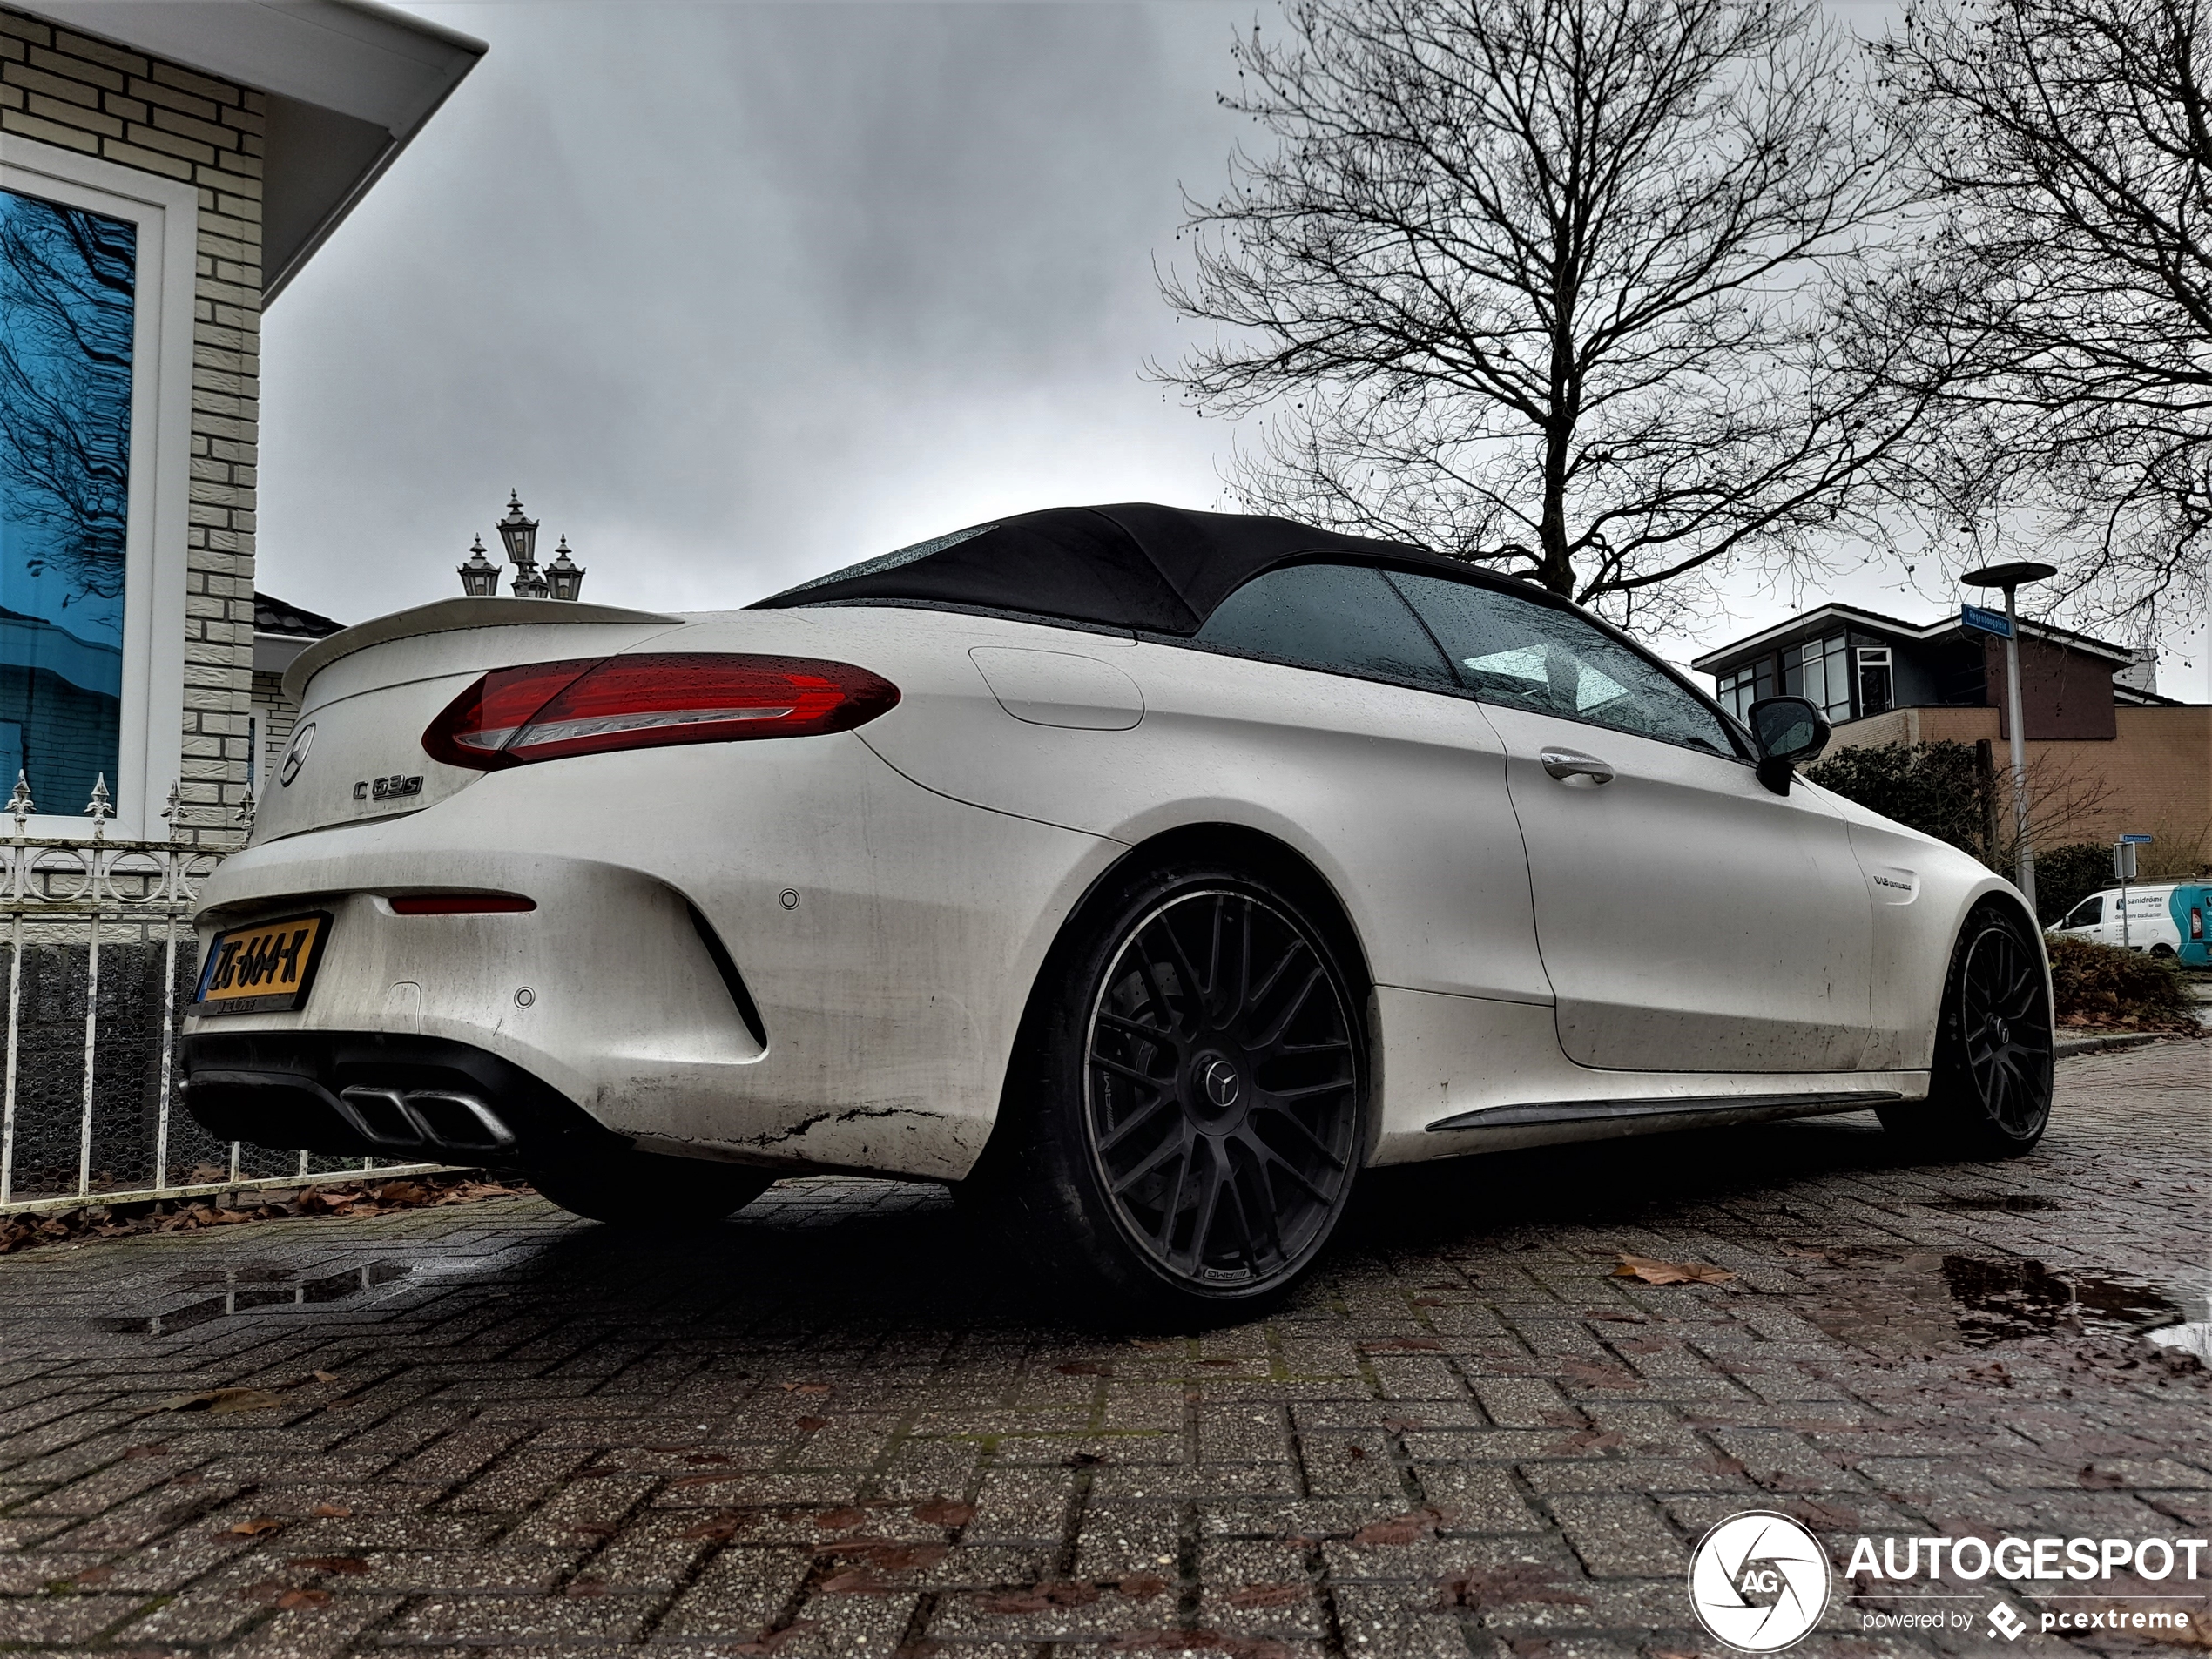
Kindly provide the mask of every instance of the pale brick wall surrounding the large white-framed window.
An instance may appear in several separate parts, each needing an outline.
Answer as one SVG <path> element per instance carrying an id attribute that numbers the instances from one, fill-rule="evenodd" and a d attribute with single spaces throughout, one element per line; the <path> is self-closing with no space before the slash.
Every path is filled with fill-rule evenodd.
<path id="1" fill-rule="evenodd" d="M 0 7 L 0 135 L 199 192 L 181 783 L 192 838 L 215 847 L 234 845 L 246 794 L 263 115 L 257 91 Z"/>

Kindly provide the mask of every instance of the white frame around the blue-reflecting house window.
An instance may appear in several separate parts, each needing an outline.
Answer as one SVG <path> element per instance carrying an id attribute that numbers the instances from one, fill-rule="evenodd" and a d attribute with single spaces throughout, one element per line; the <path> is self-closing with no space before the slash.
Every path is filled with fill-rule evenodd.
<path id="1" fill-rule="evenodd" d="M 9 133 L 0 188 L 137 226 L 131 347 L 131 507 L 124 520 L 124 690 L 108 834 L 166 834 L 184 761 L 184 593 L 190 553 L 192 288 L 199 192 L 157 173 Z M 0 801 L 15 779 L 0 781 Z M 33 836 L 91 832 L 84 801 L 38 801 Z M 13 821 L 0 818 L 0 834 Z"/>

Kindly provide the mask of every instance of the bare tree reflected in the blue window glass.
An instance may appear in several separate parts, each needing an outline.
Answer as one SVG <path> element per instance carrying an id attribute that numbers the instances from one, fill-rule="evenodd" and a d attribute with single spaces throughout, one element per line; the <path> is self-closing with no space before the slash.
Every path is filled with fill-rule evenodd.
<path id="1" fill-rule="evenodd" d="M 124 591 L 137 230 L 0 199 L 0 507 L 77 597 Z"/>

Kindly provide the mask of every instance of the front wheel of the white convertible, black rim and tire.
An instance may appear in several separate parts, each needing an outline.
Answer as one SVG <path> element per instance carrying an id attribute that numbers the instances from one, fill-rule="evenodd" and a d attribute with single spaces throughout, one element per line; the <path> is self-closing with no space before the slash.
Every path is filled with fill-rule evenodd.
<path id="1" fill-rule="evenodd" d="M 2004 905 L 1978 905 L 1944 975 L 1924 1102 L 1882 1106 L 1882 1128 L 1975 1161 L 2035 1150 L 2051 1121 L 2051 987 L 2035 933 Z"/>

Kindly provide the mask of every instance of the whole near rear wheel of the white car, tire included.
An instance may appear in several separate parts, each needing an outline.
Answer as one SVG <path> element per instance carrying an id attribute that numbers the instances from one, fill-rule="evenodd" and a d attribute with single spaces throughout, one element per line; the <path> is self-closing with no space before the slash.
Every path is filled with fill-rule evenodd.
<path id="1" fill-rule="evenodd" d="M 1115 880 L 1062 936 L 1000 1133 L 964 1183 L 1106 1323 L 1250 1318 L 1312 1272 L 1367 1152 L 1356 953 L 1285 872 L 1181 860 Z"/>

